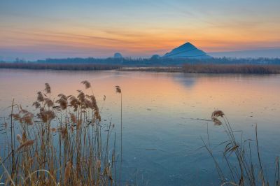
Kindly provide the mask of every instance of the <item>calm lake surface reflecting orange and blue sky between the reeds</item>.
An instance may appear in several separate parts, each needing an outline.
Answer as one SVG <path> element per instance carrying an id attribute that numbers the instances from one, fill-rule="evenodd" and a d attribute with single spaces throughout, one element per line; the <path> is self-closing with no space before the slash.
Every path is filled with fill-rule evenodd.
<path id="1" fill-rule="evenodd" d="M 146 73 L 122 71 L 28 71 L 0 69 L 0 117 L 15 98 L 28 106 L 36 91 L 50 83 L 52 94 L 76 94 L 80 81 L 92 83 L 104 120 L 119 126 L 123 91 L 123 165 L 127 183 L 148 185 L 216 185 L 214 163 L 200 136 L 213 145 L 225 139 L 223 129 L 207 120 L 223 110 L 237 130 L 253 138 L 258 123 L 260 146 L 268 169 L 279 155 L 280 76 Z M 203 120 L 197 120 L 203 119 Z M 1 144 L 1 142 L 0 142 Z M 142 179 L 143 178 L 143 179 Z"/>

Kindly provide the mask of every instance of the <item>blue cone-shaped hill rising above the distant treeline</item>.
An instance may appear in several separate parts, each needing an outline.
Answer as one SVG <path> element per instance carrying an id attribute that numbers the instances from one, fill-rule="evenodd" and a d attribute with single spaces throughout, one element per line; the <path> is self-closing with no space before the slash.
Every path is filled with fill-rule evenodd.
<path id="1" fill-rule="evenodd" d="M 167 58 L 190 58 L 190 59 L 209 59 L 211 56 L 206 52 L 198 49 L 192 43 L 185 43 L 171 52 L 166 53 L 163 57 Z"/>

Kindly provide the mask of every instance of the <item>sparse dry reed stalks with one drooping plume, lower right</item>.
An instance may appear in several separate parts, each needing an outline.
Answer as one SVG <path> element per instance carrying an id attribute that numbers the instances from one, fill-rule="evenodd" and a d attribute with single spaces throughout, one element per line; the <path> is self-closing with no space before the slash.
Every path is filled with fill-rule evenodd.
<path id="1" fill-rule="evenodd" d="M 221 120 L 218 120 L 217 117 L 222 117 L 223 122 Z M 222 175 L 223 171 L 218 165 L 213 153 L 211 152 L 209 146 L 204 143 L 204 148 L 207 149 L 211 157 L 214 159 L 214 162 L 216 164 L 216 169 L 218 171 L 218 174 L 221 177 L 221 180 L 223 180 L 222 185 L 251 185 L 255 186 L 258 185 L 258 180 L 255 179 L 257 175 L 257 172 L 255 171 L 256 169 L 259 169 L 259 175 L 260 175 L 260 181 L 261 185 L 269 185 L 267 178 L 265 178 L 264 171 L 262 169 L 262 162 L 260 158 L 260 148 L 258 145 L 258 131 L 257 131 L 257 126 L 255 127 L 255 142 L 256 142 L 256 155 L 258 155 L 258 165 L 253 164 L 253 153 L 251 153 L 251 143 L 248 144 L 248 148 L 242 143 L 242 136 L 241 136 L 241 141 L 237 142 L 236 137 L 235 137 L 235 131 L 232 130 L 232 127 L 230 126 L 230 122 L 228 122 L 228 119 L 225 117 L 225 114 L 221 110 L 215 110 L 212 115 L 211 119 L 214 121 L 214 124 L 222 125 L 225 129 L 225 134 L 228 136 L 228 141 L 225 141 L 225 150 L 223 152 L 223 157 L 226 160 L 228 169 L 230 170 L 232 180 L 230 181 L 225 181 L 224 176 Z M 203 141 L 203 139 L 202 139 Z M 204 141 L 203 141 L 204 142 Z M 221 143 L 222 144 L 222 143 Z M 230 164 L 230 161 L 228 157 L 230 155 L 235 154 L 235 157 L 237 159 L 238 166 L 233 166 Z M 247 155 L 248 154 L 248 155 Z M 277 166 L 276 166 L 277 169 Z M 278 168 L 279 169 L 279 168 Z M 237 178 L 237 180 L 235 179 Z M 275 181 L 274 183 L 277 185 L 279 183 L 279 176 L 277 177 L 277 173 L 275 171 Z"/>

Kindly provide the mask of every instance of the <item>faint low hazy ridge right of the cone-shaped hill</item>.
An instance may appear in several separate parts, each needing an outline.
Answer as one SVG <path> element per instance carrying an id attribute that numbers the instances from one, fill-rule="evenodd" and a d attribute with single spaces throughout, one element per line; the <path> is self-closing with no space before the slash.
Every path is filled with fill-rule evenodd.
<path id="1" fill-rule="evenodd" d="M 209 55 L 213 57 L 237 57 L 237 58 L 279 58 L 280 48 L 265 49 L 265 50 L 243 50 L 231 52 L 210 52 Z"/>

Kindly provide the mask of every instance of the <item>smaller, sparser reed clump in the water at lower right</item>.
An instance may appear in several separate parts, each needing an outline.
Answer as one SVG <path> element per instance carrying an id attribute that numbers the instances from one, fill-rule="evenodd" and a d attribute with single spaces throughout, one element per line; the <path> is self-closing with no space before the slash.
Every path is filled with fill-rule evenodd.
<path id="1" fill-rule="evenodd" d="M 228 137 L 227 141 L 220 144 L 225 145 L 223 159 L 225 159 L 225 164 L 228 167 L 227 170 L 222 169 L 221 164 L 214 157 L 210 143 L 207 145 L 202 139 L 204 148 L 207 149 L 214 160 L 218 175 L 221 178 L 221 185 L 280 185 L 279 157 L 276 157 L 274 183 L 269 184 L 269 180 L 262 169 L 257 126 L 255 126 L 255 148 L 252 148 L 251 143 L 254 143 L 252 140 L 244 141 L 242 137 L 240 141 L 237 140 L 236 131 L 232 130 L 230 122 L 228 122 L 223 111 L 215 110 L 211 115 L 211 119 L 215 125 L 223 126 Z M 256 162 L 253 162 L 253 159 L 256 159 Z M 227 173 L 230 175 L 227 175 Z"/>

